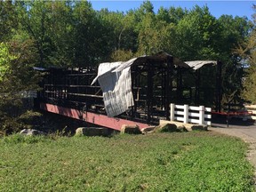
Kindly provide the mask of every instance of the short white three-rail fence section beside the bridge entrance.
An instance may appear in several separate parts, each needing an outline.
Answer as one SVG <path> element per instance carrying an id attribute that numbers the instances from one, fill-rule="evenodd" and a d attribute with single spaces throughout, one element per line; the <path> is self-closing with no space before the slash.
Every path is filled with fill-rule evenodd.
<path id="1" fill-rule="evenodd" d="M 188 106 L 170 104 L 170 120 L 181 121 L 184 124 L 212 124 L 212 108 L 204 108 L 204 106 Z"/>

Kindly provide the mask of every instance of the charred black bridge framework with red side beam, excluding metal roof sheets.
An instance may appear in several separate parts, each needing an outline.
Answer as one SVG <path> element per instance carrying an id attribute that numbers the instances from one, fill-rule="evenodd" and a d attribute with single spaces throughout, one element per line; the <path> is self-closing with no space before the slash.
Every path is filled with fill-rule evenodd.
<path id="1" fill-rule="evenodd" d="M 219 67 L 214 74 L 216 87 L 212 100 L 216 108 L 220 108 L 221 65 L 217 66 Z M 169 119 L 169 105 L 172 102 L 195 104 L 204 100 L 201 94 L 204 89 L 201 82 L 197 82 L 200 81 L 198 76 L 201 76 L 202 71 L 195 72 L 172 55 L 158 53 L 141 57 L 135 60 L 131 69 L 134 106 L 114 118 L 106 114 L 100 85 L 91 85 L 97 76 L 96 68 L 44 69 L 42 91 L 38 92 L 38 106 L 53 113 L 55 111 L 63 116 L 76 116 L 77 119 L 102 126 L 108 124 L 106 126 L 109 127 L 116 122 L 116 127 L 112 128 L 120 130 L 120 124 L 134 123 L 146 127 L 148 124 L 158 124 L 159 119 Z M 196 73 L 199 75 L 196 76 Z M 188 75 L 192 76 L 192 79 L 189 79 Z M 191 82 L 195 82 L 192 83 L 194 85 L 191 85 Z M 192 92 L 193 86 L 196 87 L 195 92 Z M 212 107 L 211 104 L 208 106 Z M 126 122 L 122 122 L 123 120 Z"/>

